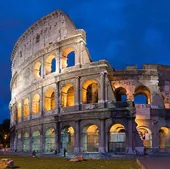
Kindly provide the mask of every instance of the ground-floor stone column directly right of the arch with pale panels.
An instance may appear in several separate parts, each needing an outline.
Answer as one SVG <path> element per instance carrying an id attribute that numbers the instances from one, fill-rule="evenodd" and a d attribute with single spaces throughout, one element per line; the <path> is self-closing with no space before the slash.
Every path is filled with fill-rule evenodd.
<path id="1" fill-rule="evenodd" d="M 128 131 L 127 131 L 127 153 L 128 154 L 134 154 L 133 151 L 133 119 L 128 119 Z"/>

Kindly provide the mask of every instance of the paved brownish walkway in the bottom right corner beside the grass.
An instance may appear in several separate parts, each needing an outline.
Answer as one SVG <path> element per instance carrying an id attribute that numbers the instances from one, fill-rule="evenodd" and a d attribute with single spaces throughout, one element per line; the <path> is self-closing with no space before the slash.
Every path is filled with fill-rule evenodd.
<path id="1" fill-rule="evenodd" d="M 142 169 L 170 169 L 170 157 L 139 157 Z"/>

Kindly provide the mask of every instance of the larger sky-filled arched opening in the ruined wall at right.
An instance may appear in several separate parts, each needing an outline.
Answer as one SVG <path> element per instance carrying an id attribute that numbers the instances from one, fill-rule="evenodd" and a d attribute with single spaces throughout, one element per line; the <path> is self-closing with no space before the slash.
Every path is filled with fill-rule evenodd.
<path id="1" fill-rule="evenodd" d="M 146 86 L 139 86 L 136 88 L 134 96 L 135 104 L 150 104 L 151 102 L 151 94 Z"/>

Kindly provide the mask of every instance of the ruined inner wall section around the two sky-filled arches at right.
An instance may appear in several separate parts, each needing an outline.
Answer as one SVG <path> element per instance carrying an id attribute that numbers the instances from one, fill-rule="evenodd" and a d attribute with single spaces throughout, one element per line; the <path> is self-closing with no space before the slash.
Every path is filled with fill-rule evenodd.
<path id="1" fill-rule="evenodd" d="M 158 80 L 157 65 L 143 65 L 143 69 L 141 70 L 127 67 L 126 70 L 114 72 L 112 87 L 114 91 L 119 87 L 126 89 L 127 100 L 134 101 L 135 89 L 145 86 L 151 94 L 151 106 L 154 108 L 163 108 L 164 105 Z"/>

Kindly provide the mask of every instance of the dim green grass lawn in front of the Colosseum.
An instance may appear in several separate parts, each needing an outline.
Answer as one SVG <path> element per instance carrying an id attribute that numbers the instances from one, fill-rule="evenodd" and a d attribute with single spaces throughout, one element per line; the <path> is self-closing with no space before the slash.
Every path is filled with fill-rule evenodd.
<path id="1" fill-rule="evenodd" d="M 19 169 L 139 169 L 135 160 L 87 160 L 83 162 L 70 162 L 64 158 L 47 157 L 18 157 L 0 156 L 11 158 Z"/>

